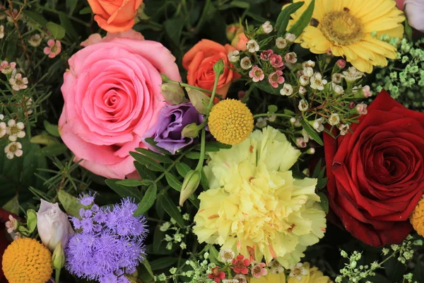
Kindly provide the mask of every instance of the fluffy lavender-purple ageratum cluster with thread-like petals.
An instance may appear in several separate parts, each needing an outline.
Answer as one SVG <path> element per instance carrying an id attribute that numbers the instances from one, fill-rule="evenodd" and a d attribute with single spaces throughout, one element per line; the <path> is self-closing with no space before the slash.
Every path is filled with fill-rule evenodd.
<path id="1" fill-rule="evenodd" d="M 92 207 L 93 209 L 93 207 Z M 133 216 L 137 205 L 129 198 L 112 208 L 95 207 L 72 217 L 82 231 L 66 246 L 66 269 L 73 275 L 100 283 L 129 282 L 124 276 L 143 260 L 143 240 L 148 230 L 144 216 Z"/>

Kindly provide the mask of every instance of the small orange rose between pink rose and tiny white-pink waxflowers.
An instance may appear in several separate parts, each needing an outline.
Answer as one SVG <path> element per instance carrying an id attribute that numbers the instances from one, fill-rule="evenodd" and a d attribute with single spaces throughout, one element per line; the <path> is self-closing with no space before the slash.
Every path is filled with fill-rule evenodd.
<path id="1" fill-rule="evenodd" d="M 223 46 L 211 40 L 198 42 L 182 58 L 182 67 L 187 70 L 187 82 L 192 86 L 212 91 L 215 81 L 213 64 L 222 58 L 225 68 L 224 73 L 219 76 L 216 93 L 225 98 L 231 81 L 240 78 L 240 74 L 229 68 L 229 66 L 232 67 L 232 64 L 228 61 L 227 55 L 231 50 L 235 50 L 235 48 L 231 45 Z"/>

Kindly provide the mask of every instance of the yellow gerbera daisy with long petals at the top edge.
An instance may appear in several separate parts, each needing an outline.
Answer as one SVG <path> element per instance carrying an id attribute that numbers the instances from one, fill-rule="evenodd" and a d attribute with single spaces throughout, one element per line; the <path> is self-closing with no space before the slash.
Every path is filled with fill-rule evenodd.
<path id="1" fill-rule="evenodd" d="M 309 6 L 305 1 L 293 13 L 293 24 Z M 396 48 L 379 40 L 380 35 L 401 38 L 404 34 L 404 13 L 393 0 L 315 0 L 310 25 L 298 38 L 302 47 L 312 53 L 331 50 L 335 56 L 346 57 L 359 71 L 371 73 L 372 66 L 387 66 L 387 59 L 396 58 Z M 377 32 L 377 37 L 371 34 Z"/>

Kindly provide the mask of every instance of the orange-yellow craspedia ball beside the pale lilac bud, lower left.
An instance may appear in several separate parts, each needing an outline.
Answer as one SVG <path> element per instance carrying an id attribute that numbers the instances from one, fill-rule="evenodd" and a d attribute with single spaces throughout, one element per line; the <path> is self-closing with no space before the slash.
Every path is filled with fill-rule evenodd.
<path id="1" fill-rule="evenodd" d="M 33 238 L 13 241 L 1 262 L 9 283 L 45 283 L 53 272 L 52 254 Z"/>

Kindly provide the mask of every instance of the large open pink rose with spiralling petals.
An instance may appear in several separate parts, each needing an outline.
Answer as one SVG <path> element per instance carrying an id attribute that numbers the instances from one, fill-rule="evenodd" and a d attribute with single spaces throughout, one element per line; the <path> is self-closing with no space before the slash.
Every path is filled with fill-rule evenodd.
<path id="1" fill-rule="evenodd" d="M 81 166 L 106 178 L 134 173 L 129 155 L 165 105 L 163 73 L 181 81 L 175 57 L 159 42 L 112 38 L 69 59 L 59 132 Z"/>

